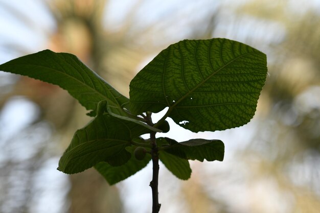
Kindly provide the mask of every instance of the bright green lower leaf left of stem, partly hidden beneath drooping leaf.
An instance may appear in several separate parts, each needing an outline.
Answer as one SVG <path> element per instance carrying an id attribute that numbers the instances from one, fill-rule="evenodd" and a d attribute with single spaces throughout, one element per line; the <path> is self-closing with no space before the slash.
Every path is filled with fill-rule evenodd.
<path id="1" fill-rule="evenodd" d="M 134 149 L 135 146 L 126 147 L 126 150 L 131 153 L 131 158 L 120 167 L 112 167 L 107 162 L 99 162 L 95 165 L 95 169 L 108 181 L 110 185 L 116 184 L 131 175 L 134 175 L 136 172 L 145 168 L 151 160 L 151 155 L 146 155 L 143 160 L 135 159 L 133 155 Z"/>

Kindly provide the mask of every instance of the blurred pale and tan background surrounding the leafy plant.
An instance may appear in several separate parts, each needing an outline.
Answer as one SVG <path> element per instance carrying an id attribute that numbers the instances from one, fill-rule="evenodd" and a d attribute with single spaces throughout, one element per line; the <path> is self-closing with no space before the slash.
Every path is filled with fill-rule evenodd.
<path id="1" fill-rule="evenodd" d="M 192 161 L 188 181 L 161 165 L 161 212 L 320 212 L 320 1 L 0 0 L 0 63 L 73 53 L 127 97 L 159 51 L 213 37 L 266 53 L 269 75 L 241 128 L 195 134 L 169 121 L 178 141 L 222 139 L 225 159 Z M 151 211 L 150 165 L 115 186 L 93 169 L 56 170 L 85 112 L 57 86 L 0 72 L 0 212 Z"/>

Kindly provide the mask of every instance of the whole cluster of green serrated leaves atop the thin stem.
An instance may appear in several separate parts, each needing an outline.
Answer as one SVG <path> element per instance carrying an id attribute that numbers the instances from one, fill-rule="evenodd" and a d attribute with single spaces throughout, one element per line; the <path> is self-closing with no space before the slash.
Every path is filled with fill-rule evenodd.
<path id="1" fill-rule="evenodd" d="M 115 184 L 143 169 L 151 145 L 141 135 L 167 132 L 167 117 L 193 132 L 242 126 L 252 119 L 264 85 L 266 56 L 243 43 L 222 38 L 183 40 L 170 45 L 130 83 L 130 99 L 110 86 L 76 56 L 50 50 L 0 65 L 0 70 L 56 84 L 93 117 L 77 130 L 58 170 L 74 174 L 94 167 Z M 150 114 L 168 107 L 153 124 Z M 223 160 L 221 140 L 177 142 L 156 139 L 159 159 L 176 177 L 188 179 L 188 160 Z M 138 160 L 136 147 L 147 155 Z"/>

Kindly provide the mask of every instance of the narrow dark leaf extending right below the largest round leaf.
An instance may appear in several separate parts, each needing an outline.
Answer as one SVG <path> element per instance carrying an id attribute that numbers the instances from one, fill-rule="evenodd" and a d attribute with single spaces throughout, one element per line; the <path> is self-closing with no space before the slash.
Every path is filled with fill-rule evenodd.
<path id="1" fill-rule="evenodd" d="M 224 144 L 221 140 L 191 139 L 178 143 L 171 138 L 158 138 L 168 143 L 167 147 L 163 146 L 165 152 L 180 158 L 208 161 L 222 161 L 224 157 Z M 165 143 L 162 141 L 161 143 Z"/>

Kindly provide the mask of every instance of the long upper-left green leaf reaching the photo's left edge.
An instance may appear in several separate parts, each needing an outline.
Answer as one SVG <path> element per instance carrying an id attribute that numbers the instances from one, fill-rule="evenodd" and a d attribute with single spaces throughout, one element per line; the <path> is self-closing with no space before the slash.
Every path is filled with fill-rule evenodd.
<path id="1" fill-rule="evenodd" d="M 72 54 L 44 50 L 4 63 L 0 70 L 56 84 L 87 110 L 96 110 L 100 101 L 107 100 L 113 113 L 126 114 L 123 107 L 129 100 Z"/>

